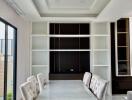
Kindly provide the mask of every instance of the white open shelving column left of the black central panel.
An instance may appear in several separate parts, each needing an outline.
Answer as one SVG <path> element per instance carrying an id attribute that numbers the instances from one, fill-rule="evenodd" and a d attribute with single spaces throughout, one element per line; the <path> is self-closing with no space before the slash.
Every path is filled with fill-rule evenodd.
<path id="1" fill-rule="evenodd" d="M 49 74 L 49 37 L 47 22 L 33 22 L 31 34 L 31 74 Z"/>

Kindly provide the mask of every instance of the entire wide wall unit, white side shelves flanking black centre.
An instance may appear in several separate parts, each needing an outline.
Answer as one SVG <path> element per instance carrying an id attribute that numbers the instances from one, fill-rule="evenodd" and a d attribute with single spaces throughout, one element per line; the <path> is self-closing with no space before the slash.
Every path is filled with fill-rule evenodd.
<path id="1" fill-rule="evenodd" d="M 66 27 L 64 28 L 64 26 Z M 50 31 L 49 27 L 51 28 Z M 74 28 L 70 30 L 71 27 Z M 82 64 L 82 66 L 90 67 L 90 71 L 92 73 L 108 80 L 109 86 L 107 93 L 108 95 L 111 95 L 111 51 L 109 23 L 91 22 L 86 24 L 59 24 L 34 22 L 32 29 L 32 74 L 42 72 L 46 74 L 48 78 L 50 71 L 55 69 L 50 69 L 50 61 L 53 61 L 54 63 L 56 59 L 61 59 L 62 62 L 64 62 L 63 55 L 65 55 L 66 58 L 71 56 L 71 58 L 75 59 L 73 60 L 70 58 L 67 59 L 68 61 L 75 61 L 76 66 Z M 84 59 L 85 57 L 87 58 Z M 68 64 L 70 65 L 71 63 Z M 68 67 L 72 67 L 69 65 Z M 57 66 L 59 66 L 59 64 Z M 70 68 L 70 71 L 74 71 L 74 69 Z M 75 71 L 79 72 L 78 69 L 75 69 Z"/>

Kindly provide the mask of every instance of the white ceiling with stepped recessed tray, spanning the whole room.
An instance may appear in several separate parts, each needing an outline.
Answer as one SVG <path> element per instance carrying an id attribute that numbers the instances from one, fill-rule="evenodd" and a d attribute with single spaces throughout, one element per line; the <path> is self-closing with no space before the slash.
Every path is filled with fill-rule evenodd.
<path id="1" fill-rule="evenodd" d="M 132 11 L 132 0 L 6 0 L 31 21 L 103 21 Z M 124 11 L 122 13 L 122 11 Z M 129 11 L 129 13 L 127 12 Z"/>

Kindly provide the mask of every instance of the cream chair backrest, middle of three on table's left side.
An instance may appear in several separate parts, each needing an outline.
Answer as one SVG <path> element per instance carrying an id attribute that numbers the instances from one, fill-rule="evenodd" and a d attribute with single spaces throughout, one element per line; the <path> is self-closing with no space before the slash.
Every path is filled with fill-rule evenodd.
<path id="1" fill-rule="evenodd" d="M 37 81 L 37 78 L 35 76 L 30 76 L 27 78 L 27 81 L 31 82 L 31 85 L 33 86 L 33 93 L 35 97 L 37 97 L 40 92 L 39 83 Z"/>

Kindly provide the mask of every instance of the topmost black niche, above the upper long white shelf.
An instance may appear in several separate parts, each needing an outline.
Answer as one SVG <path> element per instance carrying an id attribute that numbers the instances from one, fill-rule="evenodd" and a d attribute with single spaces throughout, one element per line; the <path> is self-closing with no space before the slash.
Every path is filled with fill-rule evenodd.
<path id="1" fill-rule="evenodd" d="M 89 23 L 50 23 L 50 34 L 60 35 L 88 35 Z"/>

